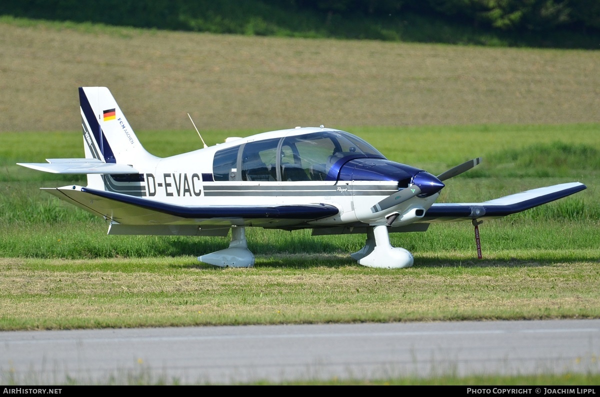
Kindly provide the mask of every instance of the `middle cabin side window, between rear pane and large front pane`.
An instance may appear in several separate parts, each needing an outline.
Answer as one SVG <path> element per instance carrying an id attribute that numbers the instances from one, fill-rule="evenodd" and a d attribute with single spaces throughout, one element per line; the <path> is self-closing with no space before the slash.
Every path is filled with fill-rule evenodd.
<path id="1" fill-rule="evenodd" d="M 280 139 L 249 142 L 242 152 L 242 181 L 277 180 L 277 145 Z"/>

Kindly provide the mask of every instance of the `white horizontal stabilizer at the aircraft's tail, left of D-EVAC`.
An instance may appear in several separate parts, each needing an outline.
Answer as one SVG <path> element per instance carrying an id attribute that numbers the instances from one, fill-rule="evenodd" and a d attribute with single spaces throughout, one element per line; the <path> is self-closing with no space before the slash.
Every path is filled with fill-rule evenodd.
<path id="1" fill-rule="evenodd" d="M 137 174 L 128 164 L 104 163 L 94 158 L 49 158 L 48 163 L 17 163 L 38 171 L 54 174 Z"/>

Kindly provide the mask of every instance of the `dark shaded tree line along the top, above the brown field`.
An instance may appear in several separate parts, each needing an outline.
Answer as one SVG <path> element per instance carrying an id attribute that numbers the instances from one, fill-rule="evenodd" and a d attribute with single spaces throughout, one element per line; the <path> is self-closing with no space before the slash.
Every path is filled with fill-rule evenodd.
<path id="1" fill-rule="evenodd" d="M 2 0 L 0 15 L 140 28 L 239 33 L 239 26 L 299 22 L 307 15 L 401 19 L 413 13 L 476 29 L 600 32 L 600 0 Z M 301 19 L 302 19 L 301 18 Z M 287 22 L 286 22 L 287 21 Z M 244 22 L 244 23 L 241 23 Z M 298 29 L 295 26 L 294 29 Z M 267 31 L 268 33 L 268 31 Z"/>

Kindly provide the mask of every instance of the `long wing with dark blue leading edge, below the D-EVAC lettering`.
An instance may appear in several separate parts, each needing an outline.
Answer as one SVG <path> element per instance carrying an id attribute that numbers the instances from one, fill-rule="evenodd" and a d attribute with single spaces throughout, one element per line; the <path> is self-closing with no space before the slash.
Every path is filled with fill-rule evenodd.
<path id="1" fill-rule="evenodd" d="M 224 229 L 226 234 L 232 225 L 269 228 L 301 225 L 339 212 L 335 206 L 319 203 L 281 206 L 182 206 L 80 186 L 43 190 L 88 212 L 110 219 L 113 221 L 110 234 L 221 235 L 215 230 Z M 211 231 L 217 234 L 211 234 Z"/>

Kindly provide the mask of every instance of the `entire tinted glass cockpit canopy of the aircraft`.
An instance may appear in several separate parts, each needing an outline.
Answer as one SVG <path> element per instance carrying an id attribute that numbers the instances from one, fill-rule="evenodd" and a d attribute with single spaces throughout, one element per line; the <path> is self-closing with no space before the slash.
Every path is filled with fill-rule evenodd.
<path id="1" fill-rule="evenodd" d="M 215 153 L 215 181 L 337 181 L 357 158 L 385 157 L 357 136 L 319 131 L 248 142 Z"/>

